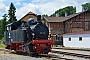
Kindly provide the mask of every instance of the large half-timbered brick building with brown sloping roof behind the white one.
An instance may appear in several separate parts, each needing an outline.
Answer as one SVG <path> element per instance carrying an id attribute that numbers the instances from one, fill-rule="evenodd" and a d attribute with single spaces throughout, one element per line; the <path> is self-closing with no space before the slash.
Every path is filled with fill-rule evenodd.
<path id="1" fill-rule="evenodd" d="M 50 34 L 67 34 L 90 31 L 90 11 L 79 12 L 65 17 L 44 17 Z M 53 40 L 55 40 L 53 38 Z M 61 38 L 61 40 L 63 40 Z"/>

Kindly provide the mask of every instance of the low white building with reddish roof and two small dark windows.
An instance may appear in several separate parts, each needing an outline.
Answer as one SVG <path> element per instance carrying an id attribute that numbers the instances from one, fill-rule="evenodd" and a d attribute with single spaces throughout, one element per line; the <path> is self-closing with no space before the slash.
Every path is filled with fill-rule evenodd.
<path id="1" fill-rule="evenodd" d="M 90 31 L 63 35 L 65 47 L 90 48 Z"/>

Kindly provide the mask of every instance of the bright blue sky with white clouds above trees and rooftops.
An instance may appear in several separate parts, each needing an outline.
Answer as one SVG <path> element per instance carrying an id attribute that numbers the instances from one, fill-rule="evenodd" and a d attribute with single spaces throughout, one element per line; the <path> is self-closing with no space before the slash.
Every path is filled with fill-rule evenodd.
<path id="1" fill-rule="evenodd" d="M 0 19 L 8 13 L 11 2 L 16 7 L 16 17 L 19 20 L 30 11 L 38 15 L 51 15 L 66 6 L 74 6 L 77 12 L 81 12 L 81 5 L 90 0 L 0 0 Z"/>

